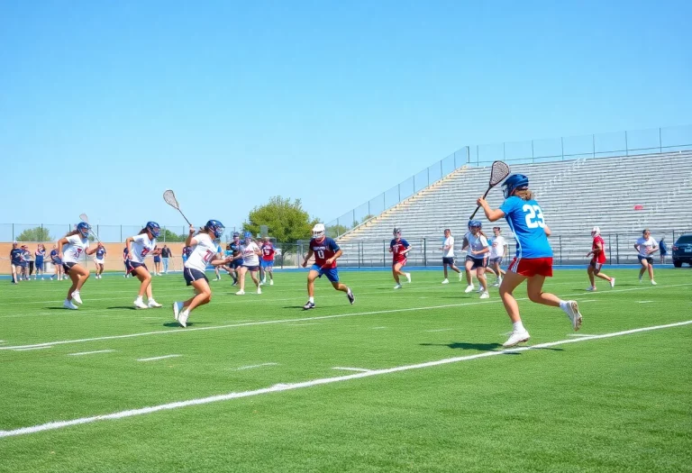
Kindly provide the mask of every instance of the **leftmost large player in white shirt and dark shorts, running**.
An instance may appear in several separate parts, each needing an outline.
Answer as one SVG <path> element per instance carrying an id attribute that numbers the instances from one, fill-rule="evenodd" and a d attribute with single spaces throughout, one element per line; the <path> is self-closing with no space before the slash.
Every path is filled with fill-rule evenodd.
<path id="1" fill-rule="evenodd" d="M 72 279 L 72 286 L 68 289 L 68 298 L 62 303 L 66 309 L 77 309 L 82 305 L 82 298 L 79 296 L 84 283 L 89 278 L 89 270 L 79 264 L 82 253 L 88 256 L 96 253 L 96 248 L 89 250 L 89 231 L 91 225 L 86 222 L 77 224 L 77 230 L 73 230 L 58 241 L 58 259 L 62 261 L 62 268 L 65 274 Z M 74 301 L 74 303 L 72 302 Z"/>

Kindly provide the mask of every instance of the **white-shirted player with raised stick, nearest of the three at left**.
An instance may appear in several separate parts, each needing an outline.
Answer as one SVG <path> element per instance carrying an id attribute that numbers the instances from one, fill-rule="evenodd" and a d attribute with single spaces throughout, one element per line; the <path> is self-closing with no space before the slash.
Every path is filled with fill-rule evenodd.
<path id="1" fill-rule="evenodd" d="M 214 259 L 218 254 L 218 245 L 214 240 L 223 235 L 223 223 L 218 220 L 210 220 L 199 229 L 195 235 L 195 227 L 190 225 L 185 245 L 192 248 L 190 256 L 183 267 L 183 277 L 187 286 L 195 288 L 195 296 L 185 302 L 173 303 L 173 315 L 183 327 L 187 327 L 187 318 L 199 305 L 208 304 L 212 300 L 212 288 L 209 287 L 209 279 L 206 278 L 206 265 L 214 267 L 223 266 L 231 261 L 231 258 Z"/>

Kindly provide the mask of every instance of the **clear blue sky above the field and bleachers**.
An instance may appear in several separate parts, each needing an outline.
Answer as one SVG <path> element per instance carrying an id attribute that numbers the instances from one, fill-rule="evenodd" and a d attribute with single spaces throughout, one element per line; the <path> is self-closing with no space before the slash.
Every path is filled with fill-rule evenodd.
<path id="1" fill-rule="evenodd" d="M 466 144 L 692 123 L 692 3 L 562 4 L 5 0 L 0 223 L 329 221 Z"/>

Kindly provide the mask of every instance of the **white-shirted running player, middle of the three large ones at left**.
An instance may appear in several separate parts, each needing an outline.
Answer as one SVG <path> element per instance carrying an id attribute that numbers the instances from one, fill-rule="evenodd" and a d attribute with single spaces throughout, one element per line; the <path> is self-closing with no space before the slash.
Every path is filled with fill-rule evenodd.
<path id="1" fill-rule="evenodd" d="M 160 250 L 154 251 L 154 248 L 156 248 L 156 239 L 159 238 L 160 231 L 161 227 L 159 223 L 147 222 L 138 234 L 128 237 L 125 240 L 127 253 L 130 255 L 130 258 L 125 261 L 127 272 L 132 273 L 140 280 L 140 292 L 134 300 L 134 306 L 138 309 L 161 306 L 154 300 L 154 296 L 151 294 L 151 274 L 147 265 L 144 264 L 144 259 L 148 254 L 160 254 Z M 144 301 L 142 301 L 145 292 L 149 299 L 148 304 L 144 304 Z"/>

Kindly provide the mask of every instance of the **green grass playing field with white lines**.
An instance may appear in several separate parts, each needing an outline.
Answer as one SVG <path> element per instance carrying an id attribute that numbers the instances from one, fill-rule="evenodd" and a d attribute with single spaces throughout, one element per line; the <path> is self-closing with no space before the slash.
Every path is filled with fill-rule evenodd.
<path id="1" fill-rule="evenodd" d="M 496 288 L 442 271 L 398 291 L 342 271 L 355 305 L 318 280 L 307 312 L 305 273 L 261 296 L 225 277 L 187 329 L 180 275 L 139 311 L 132 279 L 92 277 L 78 311 L 68 281 L 5 280 L 0 471 L 692 471 L 692 272 L 608 273 L 615 289 L 585 292 L 583 270 L 546 285 L 579 301 L 576 333 L 520 287 L 534 348 L 506 351 Z"/>

